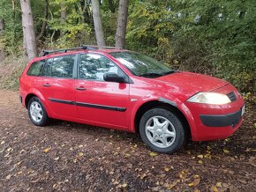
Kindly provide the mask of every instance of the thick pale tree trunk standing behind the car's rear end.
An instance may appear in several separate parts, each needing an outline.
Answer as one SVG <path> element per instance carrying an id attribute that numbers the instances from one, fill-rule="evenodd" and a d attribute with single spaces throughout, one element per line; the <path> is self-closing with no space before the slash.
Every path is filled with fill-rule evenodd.
<path id="1" fill-rule="evenodd" d="M 26 53 L 28 58 L 32 59 L 37 56 L 37 51 L 30 0 L 20 0 L 20 6 L 22 11 L 22 29 L 26 45 Z"/>

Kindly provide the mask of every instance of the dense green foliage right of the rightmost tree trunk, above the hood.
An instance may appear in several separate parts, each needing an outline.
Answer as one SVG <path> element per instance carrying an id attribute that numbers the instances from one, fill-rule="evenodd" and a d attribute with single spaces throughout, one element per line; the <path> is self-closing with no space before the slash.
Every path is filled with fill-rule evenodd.
<path id="1" fill-rule="evenodd" d="M 255 92 L 256 12 L 244 1 L 133 1 L 128 48 Z"/>

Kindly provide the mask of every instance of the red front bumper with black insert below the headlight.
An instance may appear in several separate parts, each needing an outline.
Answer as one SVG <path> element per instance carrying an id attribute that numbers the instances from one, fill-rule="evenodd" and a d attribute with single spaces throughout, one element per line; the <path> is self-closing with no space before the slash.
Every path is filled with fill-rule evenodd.
<path id="1" fill-rule="evenodd" d="M 233 85 L 215 92 L 235 92 L 237 100 L 225 105 L 184 102 L 181 110 L 189 122 L 193 141 L 209 141 L 230 137 L 242 124 L 245 101 Z"/>

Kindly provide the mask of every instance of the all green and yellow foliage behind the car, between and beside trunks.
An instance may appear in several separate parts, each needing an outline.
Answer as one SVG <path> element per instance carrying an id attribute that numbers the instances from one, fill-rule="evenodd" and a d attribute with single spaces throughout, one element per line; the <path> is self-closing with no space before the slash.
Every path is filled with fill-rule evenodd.
<path id="1" fill-rule="evenodd" d="M 14 9 L 11 2 L 14 2 Z M 94 44 L 90 1 L 31 1 L 35 32 L 46 33 L 38 47 L 65 48 Z M 151 55 L 177 70 L 190 70 L 225 78 L 242 92 L 256 90 L 256 7 L 254 0 L 130 0 L 126 48 Z M 60 4 L 64 4 L 61 8 Z M 101 1 L 102 24 L 107 45 L 115 44 L 117 0 Z M 61 22 L 61 11 L 65 20 Z M 8 54 L 22 50 L 19 0 L 2 0 L 0 18 L 4 35 L 0 48 Z M 17 48 L 18 47 L 18 48 Z"/>

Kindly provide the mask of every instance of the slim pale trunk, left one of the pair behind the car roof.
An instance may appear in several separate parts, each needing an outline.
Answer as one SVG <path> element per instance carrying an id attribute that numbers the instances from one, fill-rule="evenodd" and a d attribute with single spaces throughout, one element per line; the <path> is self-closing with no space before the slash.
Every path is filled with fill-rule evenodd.
<path id="1" fill-rule="evenodd" d="M 92 8 L 93 8 L 93 18 L 94 18 L 94 31 L 96 35 L 97 44 L 98 46 L 105 46 L 99 0 L 92 0 Z"/>

